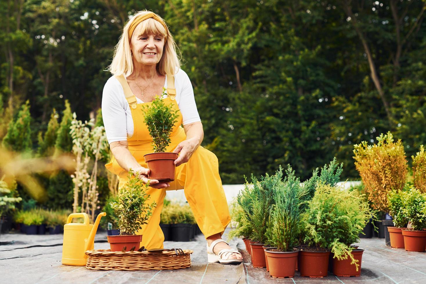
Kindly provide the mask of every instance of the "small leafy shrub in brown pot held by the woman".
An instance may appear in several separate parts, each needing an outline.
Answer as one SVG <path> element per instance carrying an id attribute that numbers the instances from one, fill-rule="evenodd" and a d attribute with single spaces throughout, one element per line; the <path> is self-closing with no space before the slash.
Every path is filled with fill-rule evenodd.
<path id="1" fill-rule="evenodd" d="M 165 89 L 163 88 L 163 96 Z M 162 97 L 156 97 L 151 106 L 143 110 L 144 122 L 153 139 L 154 153 L 145 154 L 145 162 L 150 169 L 149 178 L 158 182 L 173 182 L 175 180 L 176 166 L 174 161 L 177 153 L 166 152 L 170 144 L 170 134 L 177 122 L 178 110 L 173 110 L 173 104 L 165 105 Z"/>

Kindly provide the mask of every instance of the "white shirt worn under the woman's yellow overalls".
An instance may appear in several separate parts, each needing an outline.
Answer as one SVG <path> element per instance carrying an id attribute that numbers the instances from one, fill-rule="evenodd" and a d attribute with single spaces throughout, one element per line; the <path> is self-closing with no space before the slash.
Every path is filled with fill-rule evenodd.
<path id="1" fill-rule="evenodd" d="M 164 88 L 167 89 L 167 78 L 164 80 Z M 175 88 L 175 98 L 182 116 L 182 124 L 187 125 L 201 121 L 191 81 L 182 69 L 179 69 L 175 74 Z M 143 103 L 137 97 L 136 101 Z M 132 137 L 134 126 L 130 105 L 124 96 L 123 87 L 114 76 L 109 78 L 104 86 L 102 94 L 102 118 L 104 119 L 108 143 L 125 141 L 128 137 Z"/>

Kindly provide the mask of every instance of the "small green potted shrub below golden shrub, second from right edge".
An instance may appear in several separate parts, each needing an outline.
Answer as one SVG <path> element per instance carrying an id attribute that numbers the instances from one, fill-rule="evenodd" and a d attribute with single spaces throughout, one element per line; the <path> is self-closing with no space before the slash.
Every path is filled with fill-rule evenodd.
<path id="1" fill-rule="evenodd" d="M 406 190 L 392 190 L 388 194 L 389 213 L 393 218 L 395 227 L 388 227 L 391 247 L 404 248 L 402 230 L 406 228 L 408 219 L 405 215 L 404 201 L 407 198 Z"/>

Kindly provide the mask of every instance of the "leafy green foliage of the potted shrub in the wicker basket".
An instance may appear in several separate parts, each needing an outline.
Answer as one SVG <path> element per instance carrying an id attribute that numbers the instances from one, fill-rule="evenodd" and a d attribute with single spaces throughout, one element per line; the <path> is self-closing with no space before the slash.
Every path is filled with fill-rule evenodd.
<path id="1" fill-rule="evenodd" d="M 109 202 L 115 215 L 118 216 L 120 235 L 134 235 L 142 225 L 148 224 L 153 208 L 157 206 L 155 202 L 148 204 L 149 185 L 143 184 L 135 177 L 131 169 L 128 174 L 129 182 L 120 188 L 115 202 Z"/>

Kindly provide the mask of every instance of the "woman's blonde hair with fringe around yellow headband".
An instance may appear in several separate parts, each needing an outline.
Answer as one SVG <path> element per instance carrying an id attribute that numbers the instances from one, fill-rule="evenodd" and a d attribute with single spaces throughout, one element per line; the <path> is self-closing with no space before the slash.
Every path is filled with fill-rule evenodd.
<path id="1" fill-rule="evenodd" d="M 114 48 L 114 57 L 112 57 L 111 65 L 105 71 L 109 71 L 112 75 L 121 75 L 128 77 L 133 72 L 133 60 L 132 54 L 130 51 L 130 38 L 129 38 L 129 28 L 132 26 L 132 23 L 135 22 L 139 17 L 152 13 L 147 10 L 138 11 L 135 15 L 127 21 L 124 26 L 123 33 L 118 40 L 117 45 Z M 158 16 L 157 14 L 155 14 Z M 181 66 L 180 60 L 178 58 L 178 47 L 173 40 L 172 34 L 170 34 L 169 29 L 164 23 L 164 20 L 158 16 L 159 19 L 163 21 L 160 23 L 158 20 L 153 18 L 148 18 L 147 20 L 142 21 L 137 24 L 134 33 L 138 34 L 157 34 L 164 37 L 164 48 L 163 54 L 160 61 L 157 63 L 156 69 L 158 73 L 162 75 L 170 74 L 174 75 Z"/>

